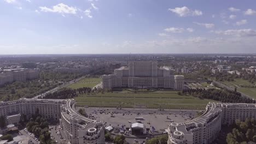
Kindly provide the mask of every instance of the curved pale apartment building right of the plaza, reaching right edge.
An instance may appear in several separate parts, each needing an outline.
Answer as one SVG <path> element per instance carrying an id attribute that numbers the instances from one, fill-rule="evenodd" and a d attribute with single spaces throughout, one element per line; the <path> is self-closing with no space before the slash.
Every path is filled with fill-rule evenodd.
<path id="1" fill-rule="evenodd" d="M 171 123 L 168 143 L 201 144 L 212 143 L 222 129 L 240 119 L 256 118 L 256 104 L 209 103 L 200 117 L 184 123 Z"/>

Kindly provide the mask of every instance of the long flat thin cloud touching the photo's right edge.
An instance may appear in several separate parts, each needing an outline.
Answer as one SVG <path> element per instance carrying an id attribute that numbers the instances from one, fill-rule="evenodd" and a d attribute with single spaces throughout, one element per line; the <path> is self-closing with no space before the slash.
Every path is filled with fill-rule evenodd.
<path id="1" fill-rule="evenodd" d="M 226 31 L 215 31 L 215 33 L 237 37 L 256 37 L 256 31 L 253 29 L 228 29 Z"/>

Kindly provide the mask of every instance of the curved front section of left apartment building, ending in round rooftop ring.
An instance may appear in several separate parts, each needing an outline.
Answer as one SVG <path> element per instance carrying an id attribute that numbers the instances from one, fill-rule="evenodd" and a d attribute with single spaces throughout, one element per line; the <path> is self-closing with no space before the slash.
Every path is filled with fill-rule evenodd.
<path id="1" fill-rule="evenodd" d="M 60 125 L 71 143 L 104 144 L 104 126 L 80 115 L 74 107 L 75 101 L 68 100 L 61 106 Z"/>

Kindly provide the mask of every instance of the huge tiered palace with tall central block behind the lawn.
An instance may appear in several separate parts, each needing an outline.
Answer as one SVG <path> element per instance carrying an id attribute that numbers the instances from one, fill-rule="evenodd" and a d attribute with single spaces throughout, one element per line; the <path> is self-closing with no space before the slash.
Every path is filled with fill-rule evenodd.
<path id="1" fill-rule="evenodd" d="M 114 87 L 131 88 L 172 88 L 182 90 L 183 75 L 174 75 L 168 67 L 158 67 L 155 61 L 133 61 L 127 67 L 114 70 L 114 74 L 103 75 L 104 89 Z"/>

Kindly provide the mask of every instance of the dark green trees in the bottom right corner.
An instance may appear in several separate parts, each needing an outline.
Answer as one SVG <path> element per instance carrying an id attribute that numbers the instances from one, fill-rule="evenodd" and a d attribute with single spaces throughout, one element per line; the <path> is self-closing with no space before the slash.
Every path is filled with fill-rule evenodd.
<path id="1" fill-rule="evenodd" d="M 256 142 L 256 119 L 247 118 L 245 122 L 237 120 L 233 127 L 232 132 L 226 136 L 228 144 Z"/>

